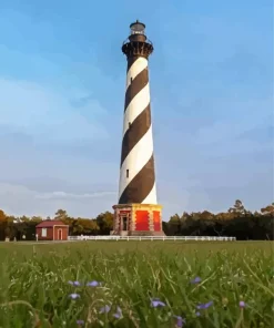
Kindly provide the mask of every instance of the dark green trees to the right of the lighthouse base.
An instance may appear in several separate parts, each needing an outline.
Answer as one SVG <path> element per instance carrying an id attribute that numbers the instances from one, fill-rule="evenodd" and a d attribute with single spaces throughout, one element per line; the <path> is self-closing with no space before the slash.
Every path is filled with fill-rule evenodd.
<path id="1" fill-rule="evenodd" d="M 209 211 L 173 215 L 163 223 L 166 235 L 179 236 L 232 236 L 239 240 L 274 239 L 274 203 L 251 212 L 240 199 L 227 212 L 212 214 Z"/>

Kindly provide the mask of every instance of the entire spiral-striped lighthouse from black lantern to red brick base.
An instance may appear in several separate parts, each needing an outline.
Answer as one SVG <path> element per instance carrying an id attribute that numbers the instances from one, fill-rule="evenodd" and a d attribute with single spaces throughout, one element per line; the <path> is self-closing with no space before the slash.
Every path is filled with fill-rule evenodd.
<path id="1" fill-rule="evenodd" d="M 122 45 L 128 72 L 123 114 L 119 204 L 113 206 L 116 235 L 163 235 L 158 204 L 150 106 L 149 57 L 152 43 L 139 21 Z"/>

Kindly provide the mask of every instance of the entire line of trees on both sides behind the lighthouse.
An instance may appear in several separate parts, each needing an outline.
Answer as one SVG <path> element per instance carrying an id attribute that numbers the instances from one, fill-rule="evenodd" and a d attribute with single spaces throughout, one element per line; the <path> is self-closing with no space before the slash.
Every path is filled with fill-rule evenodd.
<path id="1" fill-rule="evenodd" d="M 70 226 L 70 235 L 109 235 L 113 227 L 113 214 L 104 212 L 95 218 L 71 217 L 58 209 L 54 217 L 20 216 L 0 209 L 0 240 L 35 239 L 35 226 L 43 219 L 58 219 Z M 245 239 L 274 239 L 274 203 L 258 211 L 246 209 L 240 199 L 227 212 L 213 214 L 209 211 L 175 214 L 163 222 L 168 236 L 234 236 Z"/>

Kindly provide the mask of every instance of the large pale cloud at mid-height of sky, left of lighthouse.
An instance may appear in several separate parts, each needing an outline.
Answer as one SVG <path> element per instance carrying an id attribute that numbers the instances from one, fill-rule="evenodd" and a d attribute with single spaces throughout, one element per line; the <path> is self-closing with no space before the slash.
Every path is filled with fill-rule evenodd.
<path id="1" fill-rule="evenodd" d="M 71 95 L 38 83 L 0 79 L 0 124 L 10 132 L 28 133 L 35 143 L 108 137 L 98 119 L 105 110 L 94 99 L 84 104 L 87 117 L 71 104 Z"/>

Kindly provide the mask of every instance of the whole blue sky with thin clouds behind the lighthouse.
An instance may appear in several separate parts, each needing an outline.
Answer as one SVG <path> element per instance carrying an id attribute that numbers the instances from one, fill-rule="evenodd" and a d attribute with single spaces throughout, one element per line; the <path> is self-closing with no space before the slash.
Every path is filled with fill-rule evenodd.
<path id="1" fill-rule="evenodd" d="M 121 44 L 139 19 L 159 202 L 254 211 L 273 201 L 273 3 L 0 0 L 0 208 L 92 217 L 118 201 Z"/>

